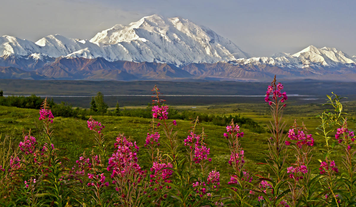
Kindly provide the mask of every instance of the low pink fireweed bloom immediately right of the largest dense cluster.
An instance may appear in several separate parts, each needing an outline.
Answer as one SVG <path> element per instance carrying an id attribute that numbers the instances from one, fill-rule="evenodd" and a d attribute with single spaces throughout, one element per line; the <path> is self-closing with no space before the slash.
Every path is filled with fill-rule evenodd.
<path id="1" fill-rule="evenodd" d="M 166 169 L 164 169 L 164 168 L 166 168 Z M 167 183 L 172 182 L 171 180 L 169 180 L 169 177 L 172 176 L 173 170 L 171 170 L 169 168 L 173 168 L 172 163 L 154 162 L 153 166 L 151 168 L 151 172 L 154 172 L 154 173 L 152 175 L 150 175 L 150 178 L 151 178 L 150 182 L 155 182 L 156 184 L 159 184 L 160 188 L 163 187 L 161 185 L 162 182 L 167 182 Z"/>

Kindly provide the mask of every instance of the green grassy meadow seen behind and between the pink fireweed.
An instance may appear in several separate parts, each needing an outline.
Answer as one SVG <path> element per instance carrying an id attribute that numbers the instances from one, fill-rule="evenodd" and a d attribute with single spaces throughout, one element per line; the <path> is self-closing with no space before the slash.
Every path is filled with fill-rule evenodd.
<path id="1" fill-rule="evenodd" d="M 355 102 L 347 103 L 346 112 L 351 113 L 351 120 L 354 117 Z M 252 118 L 254 121 L 260 123 L 266 129 L 266 133 L 254 133 L 241 127 L 241 131 L 245 133 L 245 136 L 241 139 L 242 147 L 245 150 L 245 159 L 249 161 L 248 168 L 253 171 L 261 171 L 263 165 L 256 165 L 255 163 L 265 162 L 265 150 L 268 149 L 267 139 L 271 137 L 268 133 L 267 124 L 271 119 L 268 104 L 225 104 L 225 105 L 206 105 L 206 106 L 174 106 L 178 110 L 194 110 L 199 113 L 211 113 L 211 114 L 225 114 L 225 115 L 237 115 L 243 117 Z M 129 108 L 129 107 L 127 107 Z M 134 106 L 132 108 L 137 108 Z M 284 112 L 283 120 L 286 121 L 287 129 L 292 126 L 294 119 L 297 119 L 298 124 L 304 124 L 313 134 L 315 139 L 313 162 L 314 166 L 318 165 L 319 158 L 322 157 L 322 150 L 324 148 L 325 140 L 315 134 L 316 127 L 320 124 L 319 119 L 315 115 L 322 112 L 325 106 L 321 104 L 308 104 L 308 105 L 291 105 L 287 106 Z M 88 117 L 89 118 L 89 117 Z M 112 149 L 112 144 L 115 141 L 117 134 L 124 133 L 126 136 L 130 136 L 133 140 L 136 140 L 140 151 L 138 153 L 139 163 L 145 168 L 148 168 L 148 153 L 143 147 L 145 143 L 147 132 L 150 128 L 150 119 L 138 118 L 138 117 L 117 117 L 117 116 L 95 116 L 95 120 L 103 123 L 105 129 L 105 140 L 107 145 Z M 195 118 L 195 117 L 192 117 Z M 168 120 L 172 121 L 172 120 Z M 176 130 L 178 131 L 177 144 L 179 145 L 179 151 L 185 153 L 184 138 L 187 137 L 188 130 L 192 124 L 189 121 L 177 120 Z M 350 122 L 349 126 L 354 128 L 355 122 Z M 17 147 L 17 144 L 22 139 L 22 133 L 31 132 L 38 135 L 41 129 L 41 122 L 38 120 L 38 110 L 21 109 L 15 107 L 0 106 L 0 134 L 1 137 L 11 136 L 15 139 L 12 147 Z M 221 175 L 222 183 L 227 182 L 228 172 L 231 169 L 226 170 L 227 161 L 229 160 L 229 148 L 228 142 L 223 137 L 225 127 L 216 126 L 210 122 L 201 123 L 199 125 L 199 131 L 204 127 L 205 133 L 208 135 L 206 143 L 210 147 L 210 158 L 212 158 L 211 168 L 216 168 L 218 171 L 224 172 Z M 63 118 L 55 117 L 53 123 L 54 130 L 54 143 L 55 147 L 61 149 L 61 154 L 67 156 L 70 160 L 78 159 L 79 155 L 84 151 L 88 152 L 92 149 L 94 144 L 94 136 L 87 128 L 85 120 L 77 118 Z M 161 134 L 163 132 L 161 131 Z M 289 159 L 293 161 L 293 155 L 289 156 Z M 335 160 L 339 159 L 335 156 Z M 225 181 L 224 181 L 225 180 Z"/>

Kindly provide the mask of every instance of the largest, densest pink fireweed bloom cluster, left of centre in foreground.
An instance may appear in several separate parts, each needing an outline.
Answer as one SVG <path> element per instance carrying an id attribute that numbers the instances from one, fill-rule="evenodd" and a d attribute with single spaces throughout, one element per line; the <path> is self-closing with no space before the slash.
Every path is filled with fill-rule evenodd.
<path id="1" fill-rule="evenodd" d="M 116 138 L 115 151 L 109 158 L 109 165 L 107 170 L 112 171 L 111 178 L 114 177 L 126 177 L 126 175 L 140 175 L 138 182 L 141 181 L 142 176 L 145 176 L 145 172 L 141 169 L 137 163 L 137 152 L 139 147 L 135 143 L 127 140 L 123 134 L 120 134 Z"/>

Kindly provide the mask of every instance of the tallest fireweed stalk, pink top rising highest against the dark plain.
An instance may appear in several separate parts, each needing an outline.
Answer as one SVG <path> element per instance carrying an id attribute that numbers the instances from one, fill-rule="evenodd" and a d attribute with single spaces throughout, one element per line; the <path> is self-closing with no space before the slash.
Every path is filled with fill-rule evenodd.
<path id="1" fill-rule="evenodd" d="M 284 192 L 281 193 L 281 187 L 284 181 L 284 176 L 286 175 L 286 169 L 284 164 L 287 159 L 287 147 L 285 145 L 286 135 L 283 134 L 283 130 L 286 127 L 286 123 L 282 122 L 283 108 L 286 107 L 284 103 L 288 97 L 286 92 L 281 92 L 283 90 L 283 85 L 281 83 L 276 83 L 276 76 L 268 86 L 266 91 L 265 101 L 271 106 L 271 114 L 273 122 L 270 121 L 271 126 L 268 126 L 272 133 L 272 137 L 268 139 L 268 153 L 266 160 L 267 165 L 272 170 L 275 177 L 268 179 L 272 184 L 273 196 L 271 198 L 271 203 L 269 205 L 277 205 L 281 202 L 281 198 Z M 272 96 L 272 97 L 270 97 Z M 269 202 L 269 199 L 265 199 Z"/>

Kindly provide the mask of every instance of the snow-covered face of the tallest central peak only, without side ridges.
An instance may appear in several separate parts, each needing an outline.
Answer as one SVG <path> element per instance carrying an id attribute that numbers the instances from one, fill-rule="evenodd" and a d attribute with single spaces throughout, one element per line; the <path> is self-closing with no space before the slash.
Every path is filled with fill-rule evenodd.
<path id="1" fill-rule="evenodd" d="M 209 28 L 180 17 L 163 18 L 159 15 L 143 17 L 127 26 L 115 25 L 96 34 L 90 42 L 102 47 L 122 46 L 135 62 L 184 65 L 250 57 Z"/>

